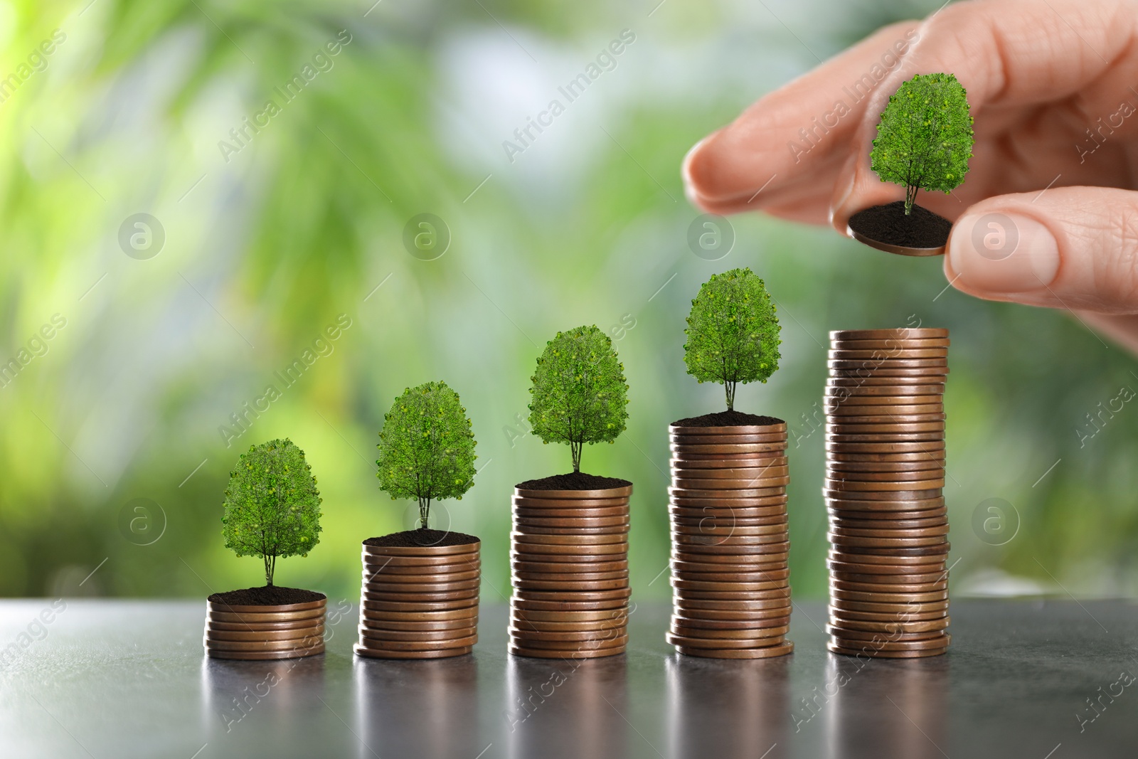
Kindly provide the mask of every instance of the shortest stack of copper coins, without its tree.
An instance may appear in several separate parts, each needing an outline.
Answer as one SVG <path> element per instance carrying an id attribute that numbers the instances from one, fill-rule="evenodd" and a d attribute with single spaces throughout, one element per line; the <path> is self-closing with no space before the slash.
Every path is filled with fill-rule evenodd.
<path id="1" fill-rule="evenodd" d="M 324 651 L 328 599 L 275 607 L 206 601 L 206 654 L 213 659 L 297 659 Z"/>

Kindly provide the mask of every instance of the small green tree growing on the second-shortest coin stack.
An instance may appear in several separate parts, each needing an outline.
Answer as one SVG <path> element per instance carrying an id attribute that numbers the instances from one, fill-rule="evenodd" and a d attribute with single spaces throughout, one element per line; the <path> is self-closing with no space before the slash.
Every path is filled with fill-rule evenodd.
<path id="1" fill-rule="evenodd" d="M 407 388 L 384 415 L 379 434 L 380 489 L 419 501 L 427 529 L 434 498 L 459 498 L 475 478 L 475 434 L 459 394 L 446 382 Z"/>

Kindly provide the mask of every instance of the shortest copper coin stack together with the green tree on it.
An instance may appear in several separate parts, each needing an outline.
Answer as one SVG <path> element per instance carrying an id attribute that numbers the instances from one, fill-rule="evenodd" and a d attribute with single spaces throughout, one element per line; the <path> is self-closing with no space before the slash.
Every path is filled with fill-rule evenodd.
<path id="1" fill-rule="evenodd" d="M 324 650 L 324 594 L 273 584 L 278 559 L 306 556 L 320 543 L 320 503 L 312 467 L 291 440 L 241 454 L 225 489 L 222 535 L 237 555 L 261 556 L 265 585 L 209 596 L 208 655 L 292 659 Z"/>

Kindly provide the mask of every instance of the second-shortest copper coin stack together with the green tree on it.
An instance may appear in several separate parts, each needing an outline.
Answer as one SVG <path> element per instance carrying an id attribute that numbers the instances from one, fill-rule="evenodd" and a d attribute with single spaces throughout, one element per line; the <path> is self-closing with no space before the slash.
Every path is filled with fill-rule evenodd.
<path id="1" fill-rule="evenodd" d="M 431 502 L 462 498 L 473 484 L 475 445 L 446 382 L 404 390 L 384 415 L 379 487 L 418 501 L 419 526 L 363 542 L 357 654 L 437 659 L 470 653 L 478 641 L 480 542 L 430 528 Z"/>

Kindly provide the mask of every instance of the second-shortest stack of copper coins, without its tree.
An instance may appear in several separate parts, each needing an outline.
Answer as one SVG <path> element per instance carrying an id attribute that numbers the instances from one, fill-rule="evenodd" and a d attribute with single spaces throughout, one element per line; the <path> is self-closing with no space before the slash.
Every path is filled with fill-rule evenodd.
<path id="1" fill-rule="evenodd" d="M 373 659 L 443 659 L 478 642 L 480 543 L 363 544 L 360 642 Z"/>

